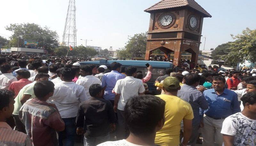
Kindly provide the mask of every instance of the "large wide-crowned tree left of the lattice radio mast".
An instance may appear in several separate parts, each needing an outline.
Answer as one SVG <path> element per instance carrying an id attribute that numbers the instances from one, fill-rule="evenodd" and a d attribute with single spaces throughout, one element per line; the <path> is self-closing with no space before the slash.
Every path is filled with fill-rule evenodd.
<path id="1" fill-rule="evenodd" d="M 18 41 L 19 46 L 23 46 L 25 39 L 37 41 L 37 47 L 44 47 L 47 51 L 52 52 L 59 44 L 59 35 L 57 32 L 50 30 L 46 26 L 41 27 L 35 23 L 23 23 L 10 24 L 5 29 L 13 32 L 9 43 L 11 47 L 17 47 Z"/>

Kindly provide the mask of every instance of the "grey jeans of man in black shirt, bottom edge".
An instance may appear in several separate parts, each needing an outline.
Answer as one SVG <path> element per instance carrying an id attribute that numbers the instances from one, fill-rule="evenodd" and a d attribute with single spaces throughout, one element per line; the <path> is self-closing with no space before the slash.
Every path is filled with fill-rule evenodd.
<path id="1" fill-rule="evenodd" d="M 109 141 L 109 134 L 106 136 L 98 137 L 85 137 L 84 136 L 84 146 L 96 146 L 100 143 Z"/>

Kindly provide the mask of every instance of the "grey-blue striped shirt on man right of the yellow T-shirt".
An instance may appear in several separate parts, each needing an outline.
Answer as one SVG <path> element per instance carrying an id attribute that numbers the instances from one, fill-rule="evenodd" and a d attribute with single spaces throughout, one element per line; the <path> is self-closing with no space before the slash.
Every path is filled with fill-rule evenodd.
<path id="1" fill-rule="evenodd" d="M 178 97 L 187 101 L 194 113 L 193 126 L 200 124 L 199 108 L 203 110 L 208 109 L 208 103 L 204 97 L 204 94 L 198 91 L 195 87 L 184 84 L 178 91 Z"/>

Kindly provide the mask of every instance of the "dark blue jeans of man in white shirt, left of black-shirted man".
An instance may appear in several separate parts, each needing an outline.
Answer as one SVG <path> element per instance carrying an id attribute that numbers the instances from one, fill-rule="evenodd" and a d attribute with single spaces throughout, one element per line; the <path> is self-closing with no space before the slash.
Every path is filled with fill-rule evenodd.
<path id="1" fill-rule="evenodd" d="M 62 118 L 65 123 L 65 130 L 59 132 L 59 146 L 63 146 L 63 137 L 66 133 L 66 142 L 65 146 L 74 146 L 75 136 L 76 136 L 76 117 L 74 118 Z"/>

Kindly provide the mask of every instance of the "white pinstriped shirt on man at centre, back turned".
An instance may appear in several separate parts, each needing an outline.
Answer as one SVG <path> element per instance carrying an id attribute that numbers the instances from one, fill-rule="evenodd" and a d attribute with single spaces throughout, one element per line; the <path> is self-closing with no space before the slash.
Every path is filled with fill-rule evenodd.
<path id="1" fill-rule="evenodd" d="M 133 96 L 139 95 L 139 93 L 143 93 L 145 88 L 140 79 L 127 76 L 124 79 L 116 81 L 116 86 L 113 91 L 120 94 L 117 109 L 124 111 L 127 100 Z"/>

